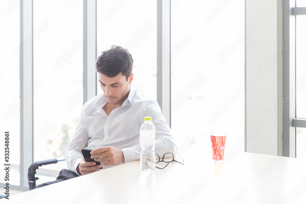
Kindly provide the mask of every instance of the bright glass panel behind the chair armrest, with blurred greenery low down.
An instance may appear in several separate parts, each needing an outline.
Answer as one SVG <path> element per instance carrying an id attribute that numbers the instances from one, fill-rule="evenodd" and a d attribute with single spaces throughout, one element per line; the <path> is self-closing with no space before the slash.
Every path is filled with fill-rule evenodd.
<path id="1" fill-rule="evenodd" d="M 64 157 L 79 121 L 83 106 L 83 2 L 34 0 L 33 29 L 37 161 Z M 48 165 L 39 169 L 51 168 L 64 167 Z M 54 171 L 43 174 L 52 176 Z"/>

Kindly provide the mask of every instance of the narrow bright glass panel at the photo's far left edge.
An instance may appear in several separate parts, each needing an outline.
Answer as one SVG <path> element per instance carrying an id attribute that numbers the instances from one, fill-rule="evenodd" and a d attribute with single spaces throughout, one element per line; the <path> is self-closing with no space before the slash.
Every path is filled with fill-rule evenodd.
<path id="1" fill-rule="evenodd" d="M 11 185 L 20 185 L 20 81 L 19 81 L 19 44 L 20 10 L 19 1 L 0 1 L 0 115 L 1 139 L 9 131 L 9 164 Z M 2 153 L 4 156 L 4 151 Z M 4 159 L 0 160 L 3 166 Z M 0 170 L 0 182 L 4 183 L 5 171 Z"/>

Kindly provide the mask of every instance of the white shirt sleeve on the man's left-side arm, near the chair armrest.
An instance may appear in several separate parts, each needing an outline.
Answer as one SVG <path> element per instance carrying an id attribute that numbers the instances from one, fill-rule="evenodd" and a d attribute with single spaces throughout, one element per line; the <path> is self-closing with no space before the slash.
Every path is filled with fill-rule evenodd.
<path id="1" fill-rule="evenodd" d="M 89 140 L 88 132 L 86 130 L 85 123 L 83 120 L 83 115 L 84 115 L 83 113 L 84 113 L 84 108 L 82 109 L 79 123 L 76 126 L 73 138 L 65 154 L 65 160 L 67 162 L 68 169 L 75 172 L 76 174 L 79 174 L 76 171 L 76 167 L 83 159 L 83 154 L 81 152 L 81 149 L 87 147 L 87 142 Z"/>

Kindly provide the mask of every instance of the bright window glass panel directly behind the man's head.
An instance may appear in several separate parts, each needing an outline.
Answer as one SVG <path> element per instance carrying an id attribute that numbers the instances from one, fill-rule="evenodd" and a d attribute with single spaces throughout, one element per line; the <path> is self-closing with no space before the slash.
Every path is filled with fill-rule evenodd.
<path id="1" fill-rule="evenodd" d="M 97 54 L 110 45 L 128 49 L 134 60 L 134 87 L 155 100 L 156 32 L 156 1 L 97 1 Z M 97 94 L 102 93 L 97 83 Z"/>

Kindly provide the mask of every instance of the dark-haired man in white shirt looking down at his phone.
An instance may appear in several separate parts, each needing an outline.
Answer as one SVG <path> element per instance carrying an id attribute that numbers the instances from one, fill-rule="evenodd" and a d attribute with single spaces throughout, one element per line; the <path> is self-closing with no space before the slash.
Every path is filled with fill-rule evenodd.
<path id="1" fill-rule="evenodd" d="M 96 172 L 101 165 L 86 162 L 81 148 L 93 149 L 91 158 L 100 161 L 103 169 L 140 160 L 140 126 L 144 117 L 152 117 L 155 125 L 155 154 L 176 154 L 170 128 L 159 105 L 152 99 L 140 98 L 131 89 L 134 78 L 133 59 L 128 50 L 111 46 L 96 62 L 100 87 L 98 95 L 82 108 L 79 124 L 68 146 L 65 159 L 68 168 L 78 175 Z"/>

